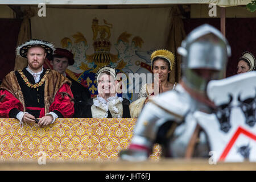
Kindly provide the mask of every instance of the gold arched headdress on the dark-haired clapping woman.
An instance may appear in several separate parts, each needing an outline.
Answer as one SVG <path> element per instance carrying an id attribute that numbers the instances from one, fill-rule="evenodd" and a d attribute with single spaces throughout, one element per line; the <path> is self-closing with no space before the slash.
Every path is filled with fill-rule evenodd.
<path id="1" fill-rule="evenodd" d="M 155 57 L 163 57 L 165 59 L 167 59 L 170 63 L 170 69 L 172 70 L 172 68 L 174 67 L 174 63 L 175 63 L 175 57 L 174 54 L 171 51 L 168 51 L 166 49 L 158 49 L 154 52 L 152 52 L 151 54 L 151 69 L 152 69 L 152 62 L 155 59 Z"/>

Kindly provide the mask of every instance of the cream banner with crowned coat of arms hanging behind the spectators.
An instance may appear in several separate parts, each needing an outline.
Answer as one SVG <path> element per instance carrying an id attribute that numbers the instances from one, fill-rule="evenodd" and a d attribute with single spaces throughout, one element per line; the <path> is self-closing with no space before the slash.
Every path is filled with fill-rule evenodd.
<path id="1" fill-rule="evenodd" d="M 151 73 L 152 51 L 166 47 L 170 11 L 171 8 L 47 8 L 46 17 L 31 19 L 32 38 L 72 51 L 75 64 L 66 73 L 87 87 L 93 97 L 97 95 L 95 73 L 104 65 L 112 65 L 127 77 L 129 73 Z M 51 68 L 49 63 L 47 66 Z M 127 82 L 127 88 L 131 82 L 134 81 Z M 137 100 L 135 86 L 138 83 L 132 84 L 129 92 L 120 93 L 122 97 Z"/>

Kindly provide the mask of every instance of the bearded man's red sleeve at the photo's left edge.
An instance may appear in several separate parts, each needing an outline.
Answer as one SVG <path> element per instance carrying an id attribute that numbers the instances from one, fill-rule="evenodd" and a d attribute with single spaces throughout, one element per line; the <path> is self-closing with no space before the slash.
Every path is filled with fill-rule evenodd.
<path id="1" fill-rule="evenodd" d="M 7 90 L 0 90 L 0 118 L 15 118 L 23 111 L 22 103 Z"/>

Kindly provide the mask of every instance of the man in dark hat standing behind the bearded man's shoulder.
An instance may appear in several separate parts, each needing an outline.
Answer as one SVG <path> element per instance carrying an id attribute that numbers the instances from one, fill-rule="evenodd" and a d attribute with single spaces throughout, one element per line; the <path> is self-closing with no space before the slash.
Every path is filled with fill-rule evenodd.
<path id="1" fill-rule="evenodd" d="M 71 90 L 75 99 L 75 114 L 73 115 L 73 118 L 81 118 L 82 107 L 84 107 L 86 101 L 90 98 L 90 92 L 87 88 L 82 86 L 79 82 L 73 80 L 71 77 L 67 76 L 65 73 L 68 66 L 75 63 L 73 53 L 67 49 L 56 48 L 52 57 L 50 58 L 50 61 L 55 71 L 59 72 L 72 82 Z"/>

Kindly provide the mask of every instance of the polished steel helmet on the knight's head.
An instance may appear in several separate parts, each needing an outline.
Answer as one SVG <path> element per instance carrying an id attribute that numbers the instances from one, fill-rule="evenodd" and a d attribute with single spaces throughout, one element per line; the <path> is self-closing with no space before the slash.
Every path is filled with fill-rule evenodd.
<path id="1" fill-rule="evenodd" d="M 182 56 L 181 71 L 184 84 L 205 94 L 210 80 L 225 77 L 231 48 L 219 30 L 209 24 L 203 24 L 188 34 L 177 52 Z M 197 72 L 199 69 L 214 72 L 210 77 L 205 78 Z"/>

